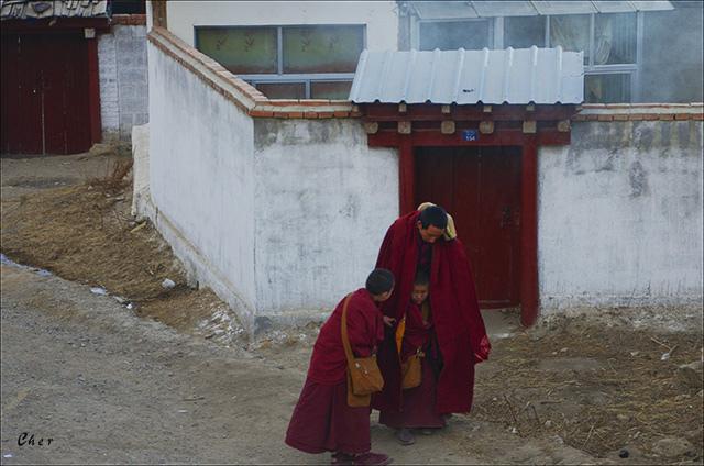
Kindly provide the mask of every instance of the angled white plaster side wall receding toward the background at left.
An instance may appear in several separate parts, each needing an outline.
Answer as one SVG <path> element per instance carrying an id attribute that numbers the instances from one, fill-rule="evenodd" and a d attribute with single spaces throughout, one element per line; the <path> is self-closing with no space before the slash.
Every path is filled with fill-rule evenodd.
<path id="1" fill-rule="evenodd" d="M 148 45 L 155 224 L 200 285 L 254 318 L 252 120 Z"/>

